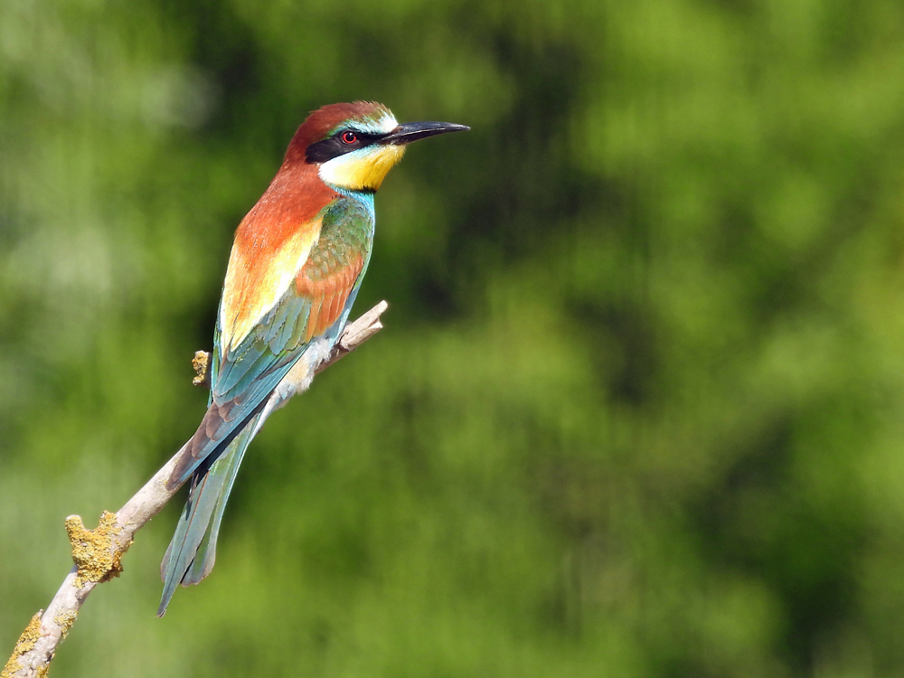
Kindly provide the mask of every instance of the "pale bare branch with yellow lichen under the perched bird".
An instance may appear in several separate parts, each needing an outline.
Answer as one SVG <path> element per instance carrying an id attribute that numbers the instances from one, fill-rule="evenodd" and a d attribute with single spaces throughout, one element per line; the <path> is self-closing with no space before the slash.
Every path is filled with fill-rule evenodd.
<path id="1" fill-rule="evenodd" d="M 320 363 L 316 372 L 324 371 L 377 334 L 383 327 L 380 315 L 388 306 L 385 301 L 381 301 L 353 323 L 346 325 L 333 351 Z M 209 383 L 208 358 L 209 354 L 201 351 L 195 353 L 193 365 L 198 376 L 194 383 Z M 105 511 L 100 516 L 96 529 L 85 529 L 78 515 L 71 515 L 66 519 L 66 532 L 69 533 L 75 566 L 63 579 L 60 590 L 47 609 L 38 611 L 25 627 L 0 678 L 46 676 L 57 645 L 60 645 L 75 623 L 85 598 L 98 584 L 119 576 L 122 571 L 120 560 L 132 545 L 135 533 L 160 513 L 178 491 L 178 488 L 167 490 L 166 481 L 172 475 L 184 448 L 185 446 L 166 462 L 118 513 Z"/>

